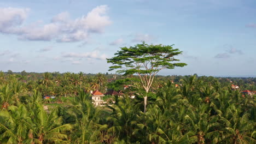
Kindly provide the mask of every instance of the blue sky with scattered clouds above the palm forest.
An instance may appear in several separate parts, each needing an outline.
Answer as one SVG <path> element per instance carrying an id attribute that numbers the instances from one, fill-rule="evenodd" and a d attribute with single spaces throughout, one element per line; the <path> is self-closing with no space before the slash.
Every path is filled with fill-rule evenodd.
<path id="1" fill-rule="evenodd" d="M 0 70 L 106 73 L 146 41 L 183 51 L 160 75 L 256 76 L 255 14 L 255 0 L 0 1 Z"/>

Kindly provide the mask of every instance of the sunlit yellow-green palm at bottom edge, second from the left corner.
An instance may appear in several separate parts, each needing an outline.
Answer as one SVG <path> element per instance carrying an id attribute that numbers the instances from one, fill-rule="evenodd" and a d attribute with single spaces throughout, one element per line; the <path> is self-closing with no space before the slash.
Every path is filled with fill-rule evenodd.
<path id="1" fill-rule="evenodd" d="M 72 125 L 62 123 L 62 117 L 57 115 L 56 108 L 48 113 L 37 103 L 36 108 L 31 109 L 30 117 L 30 143 L 67 143 L 65 132 L 71 130 Z"/>

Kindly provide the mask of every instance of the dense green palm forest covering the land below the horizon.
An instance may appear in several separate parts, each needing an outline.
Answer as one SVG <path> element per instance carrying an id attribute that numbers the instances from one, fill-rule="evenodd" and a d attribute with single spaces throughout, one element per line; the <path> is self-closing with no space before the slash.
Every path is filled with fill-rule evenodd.
<path id="1" fill-rule="evenodd" d="M 255 90 L 255 78 L 156 76 L 143 113 L 143 95 L 135 87 L 123 91 L 135 93 L 134 99 L 113 96 L 112 105 L 92 105 L 91 87 L 115 88 L 126 78 L 112 77 L 0 73 L 0 142 L 255 143 L 255 95 L 241 93 Z M 231 89 L 230 80 L 240 89 Z"/>

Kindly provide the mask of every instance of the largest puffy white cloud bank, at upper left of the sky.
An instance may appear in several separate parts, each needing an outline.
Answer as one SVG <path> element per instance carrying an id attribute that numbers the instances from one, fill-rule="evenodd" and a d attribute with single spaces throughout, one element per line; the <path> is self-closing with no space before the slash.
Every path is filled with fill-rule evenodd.
<path id="1" fill-rule="evenodd" d="M 87 15 L 71 20 L 67 12 L 60 13 L 45 25 L 23 26 L 28 9 L 0 9 L 0 33 L 16 34 L 21 40 L 56 40 L 75 42 L 89 38 L 90 34 L 102 33 L 112 22 L 107 14 L 107 5 L 92 9 Z M 4 17 L 4 18 L 3 18 Z"/>

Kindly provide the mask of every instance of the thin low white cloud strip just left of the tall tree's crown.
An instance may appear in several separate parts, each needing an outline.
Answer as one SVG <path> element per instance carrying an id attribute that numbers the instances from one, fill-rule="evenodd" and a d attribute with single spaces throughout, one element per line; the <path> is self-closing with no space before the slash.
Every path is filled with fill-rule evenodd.
<path id="1" fill-rule="evenodd" d="M 69 58 L 95 58 L 104 60 L 107 56 L 103 53 L 100 54 L 99 51 L 92 51 L 92 52 L 84 52 L 84 53 L 76 53 L 76 52 L 69 52 L 63 53 L 62 57 L 69 57 Z"/>

